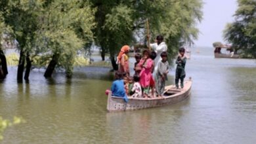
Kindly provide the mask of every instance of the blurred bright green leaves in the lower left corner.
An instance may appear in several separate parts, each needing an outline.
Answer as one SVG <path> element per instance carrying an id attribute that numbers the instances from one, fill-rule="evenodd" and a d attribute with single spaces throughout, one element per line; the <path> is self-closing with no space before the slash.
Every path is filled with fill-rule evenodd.
<path id="1" fill-rule="evenodd" d="M 5 120 L 2 117 L 0 117 L 0 140 L 3 139 L 3 132 L 5 129 L 9 126 L 20 124 L 26 122 L 23 118 L 20 117 L 14 117 L 12 121 Z"/>

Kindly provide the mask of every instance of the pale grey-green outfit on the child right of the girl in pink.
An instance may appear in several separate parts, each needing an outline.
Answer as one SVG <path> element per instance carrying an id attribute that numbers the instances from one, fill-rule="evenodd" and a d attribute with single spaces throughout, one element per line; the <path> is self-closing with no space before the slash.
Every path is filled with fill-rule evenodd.
<path id="1" fill-rule="evenodd" d="M 168 62 L 158 63 L 158 71 L 156 74 L 156 93 L 159 95 L 163 95 L 163 92 L 165 90 L 165 81 L 167 81 L 167 75 L 165 75 L 165 73 L 168 71 L 168 69 Z M 165 79 L 162 79 L 162 76 L 165 76 Z"/>

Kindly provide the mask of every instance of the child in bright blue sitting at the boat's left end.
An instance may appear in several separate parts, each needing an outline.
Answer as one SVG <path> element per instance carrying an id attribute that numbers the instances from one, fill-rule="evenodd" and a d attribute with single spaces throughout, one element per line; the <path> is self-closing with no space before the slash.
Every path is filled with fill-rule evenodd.
<path id="1" fill-rule="evenodd" d="M 127 95 L 125 94 L 125 85 L 122 79 L 122 73 L 116 72 L 116 81 L 112 83 L 111 91 L 112 96 L 123 98 L 124 101 L 128 101 Z"/>

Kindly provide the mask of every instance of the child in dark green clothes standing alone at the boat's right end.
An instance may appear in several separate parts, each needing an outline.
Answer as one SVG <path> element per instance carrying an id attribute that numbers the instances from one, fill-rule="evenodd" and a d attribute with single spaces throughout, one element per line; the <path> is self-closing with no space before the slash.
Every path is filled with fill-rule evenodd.
<path id="1" fill-rule="evenodd" d="M 181 88 L 184 87 L 183 81 L 186 77 L 185 65 L 186 65 L 186 56 L 184 55 L 185 48 L 179 48 L 179 56 L 176 60 L 177 68 L 175 73 L 175 86 L 179 88 L 179 80 L 181 80 Z"/>

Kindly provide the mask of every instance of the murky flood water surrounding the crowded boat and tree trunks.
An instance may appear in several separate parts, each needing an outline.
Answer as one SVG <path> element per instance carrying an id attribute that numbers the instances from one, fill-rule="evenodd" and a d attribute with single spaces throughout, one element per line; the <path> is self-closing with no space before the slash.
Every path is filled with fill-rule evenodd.
<path id="1" fill-rule="evenodd" d="M 181 103 L 107 113 L 108 68 L 75 69 L 45 80 L 33 70 L 16 82 L 16 67 L 0 82 L 0 115 L 26 120 L 7 128 L 0 143 L 256 143 L 256 61 L 213 58 L 192 50 L 186 65 L 192 94 Z M 171 69 L 169 84 L 175 70 Z"/>

